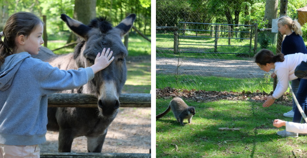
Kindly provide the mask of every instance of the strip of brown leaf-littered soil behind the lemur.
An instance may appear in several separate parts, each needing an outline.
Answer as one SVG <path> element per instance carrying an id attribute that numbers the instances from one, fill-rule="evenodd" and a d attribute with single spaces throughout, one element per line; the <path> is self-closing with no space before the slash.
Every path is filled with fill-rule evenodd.
<path id="1" fill-rule="evenodd" d="M 175 89 L 175 88 L 163 88 L 156 89 L 156 97 L 157 98 L 173 98 L 180 97 L 185 98 L 194 102 L 212 102 L 218 100 L 248 100 L 252 102 L 264 102 L 263 98 L 271 95 L 266 92 L 250 92 L 250 91 L 242 91 L 242 92 L 227 92 L 227 91 L 206 91 L 206 90 L 187 90 L 187 89 Z M 284 101 L 275 101 L 276 104 L 283 104 L 292 106 L 291 94 L 286 92 L 283 95 Z"/>

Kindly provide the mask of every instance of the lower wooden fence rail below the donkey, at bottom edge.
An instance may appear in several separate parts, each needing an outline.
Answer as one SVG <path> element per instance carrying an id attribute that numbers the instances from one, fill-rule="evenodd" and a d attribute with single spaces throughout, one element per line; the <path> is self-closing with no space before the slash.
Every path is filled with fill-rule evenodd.
<path id="1" fill-rule="evenodd" d="M 151 158 L 151 154 L 133 154 L 133 153 L 40 153 L 40 158 Z"/>

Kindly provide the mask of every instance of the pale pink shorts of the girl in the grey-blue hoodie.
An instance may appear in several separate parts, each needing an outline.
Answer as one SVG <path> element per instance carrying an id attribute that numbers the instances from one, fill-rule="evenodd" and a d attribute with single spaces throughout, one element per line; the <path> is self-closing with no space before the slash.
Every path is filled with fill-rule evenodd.
<path id="1" fill-rule="evenodd" d="M 39 158 L 38 145 L 0 144 L 0 158 Z"/>

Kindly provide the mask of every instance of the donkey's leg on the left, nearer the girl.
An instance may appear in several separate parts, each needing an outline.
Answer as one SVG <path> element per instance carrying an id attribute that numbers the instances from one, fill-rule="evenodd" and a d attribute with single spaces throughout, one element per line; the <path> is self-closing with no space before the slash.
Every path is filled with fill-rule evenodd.
<path id="1" fill-rule="evenodd" d="M 74 141 L 74 135 L 71 130 L 59 129 L 58 132 L 58 152 L 70 153 Z"/>

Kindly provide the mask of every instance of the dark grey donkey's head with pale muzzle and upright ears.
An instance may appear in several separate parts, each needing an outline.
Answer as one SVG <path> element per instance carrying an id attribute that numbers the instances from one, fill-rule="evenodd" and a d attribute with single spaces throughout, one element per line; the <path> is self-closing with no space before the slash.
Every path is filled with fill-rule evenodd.
<path id="1" fill-rule="evenodd" d="M 89 25 L 69 18 L 65 14 L 61 19 L 78 36 L 80 42 L 75 48 L 74 58 L 78 68 L 85 68 L 94 64 L 98 52 L 103 48 L 113 51 L 114 61 L 104 70 L 95 74 L 95 78 L 84 86 L 84 93 L 94 93 L 98 98 L 100 116 L 115 117 L 118 111 L 119 95 L 127 79 L 125 57 L 128 51 L 121 41 L 132 28 L 135 14 L 122 20 L 116 27 L 112 27 L 106 18 L 95 18 Z"/>

